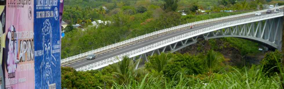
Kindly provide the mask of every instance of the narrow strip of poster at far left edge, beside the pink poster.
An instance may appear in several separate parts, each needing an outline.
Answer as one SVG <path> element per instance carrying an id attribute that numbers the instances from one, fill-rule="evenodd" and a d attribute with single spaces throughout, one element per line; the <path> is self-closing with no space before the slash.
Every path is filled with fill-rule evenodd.
<path id="1" fill-rule="evenodd" d="M 5 8 L 6 2 L 5 0 L 0 0 L 0 89 L 5 89 L 4 83 L 4 60 L 3 60 L 3 46 L 5 46 L 5 41 L 3 33 L 5 32 Z M 3 37 L 2 37 L 3 36 Z"/>

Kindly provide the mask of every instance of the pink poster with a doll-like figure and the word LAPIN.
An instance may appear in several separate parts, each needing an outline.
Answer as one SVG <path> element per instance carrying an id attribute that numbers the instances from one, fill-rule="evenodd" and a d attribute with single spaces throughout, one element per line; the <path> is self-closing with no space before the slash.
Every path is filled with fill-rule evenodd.
<path id="1" fill-rule="evenodd" d="M 34 89 L 33 0 L 7 0 L 5 89 Z"/>

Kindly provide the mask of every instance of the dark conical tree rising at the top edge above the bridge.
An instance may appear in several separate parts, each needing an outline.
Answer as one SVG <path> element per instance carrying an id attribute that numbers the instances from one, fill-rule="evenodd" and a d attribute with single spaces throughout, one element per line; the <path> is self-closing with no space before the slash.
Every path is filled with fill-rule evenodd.
<path id="1" fill-rule="evenodd" d="M 165 4 L 162 5 L 162 9 L 166 12 L 169 12 L 169 11 L 176 11 L 178 5 L 177 5 L 177 2 L 178 0 L 163 0 L 165 1 Z"/>

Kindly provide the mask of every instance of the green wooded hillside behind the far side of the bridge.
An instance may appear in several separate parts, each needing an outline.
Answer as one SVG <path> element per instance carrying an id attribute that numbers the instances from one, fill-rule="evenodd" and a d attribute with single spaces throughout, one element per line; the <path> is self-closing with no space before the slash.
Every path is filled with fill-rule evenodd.
<path id="1" fill-rule="evenodd" d="M 224 5 L 224 2 L 227 4 Z M 235 3 L 231 0 L 65 0 L 63 20 L 69 24 L 83 23 L 84 31 L 72 28 L 71 25 L 64 29 L 66 35 L 62 38 L 61 58 L 180 24 L 245 13 L 246 11 L 240 10 L 256 9 L 258 6 L 254 3 L 261 6 L 266 2 L 264 0 L 237 0 Z M 198 9 L 206 9 L 207 12 L 212 13 L 201 14 L 196 12 Z M 177 10 L 184 10 L 188 15 L 181 16 Z M 237 12 L 220 13 L 220 10 L 237 10 Z M 95 20 L 113 23 L 101 24 L 98 28 L 89 27 Z"/>

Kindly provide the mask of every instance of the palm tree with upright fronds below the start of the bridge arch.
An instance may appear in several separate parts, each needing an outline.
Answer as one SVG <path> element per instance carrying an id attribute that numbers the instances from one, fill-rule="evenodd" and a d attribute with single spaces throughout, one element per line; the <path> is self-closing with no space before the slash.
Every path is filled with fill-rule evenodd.
<path id="1" fill-rule="evenodd" d="M 208 51 L 206 57 L 205 57 L 205 63 L 207 64 L 207 66 L 210 68 L 210 74 L 212 72 L 212 68 L 215 65 L 218 65 L 217 63 L 219 63 L 219 61 L 223 60 L 223 55 L 221 55 L 220 53 L 216 53 L 213 50 Z"/>

